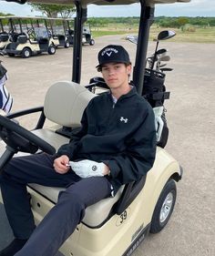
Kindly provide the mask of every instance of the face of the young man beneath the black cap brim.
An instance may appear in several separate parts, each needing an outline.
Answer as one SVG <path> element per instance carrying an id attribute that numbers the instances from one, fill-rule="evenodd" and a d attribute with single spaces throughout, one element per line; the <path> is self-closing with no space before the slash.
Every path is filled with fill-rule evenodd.
<path id="1" fill-rule="evenodd" d="M 108 63 L 101 68 L 107 86 L 111 89 L 128 87 L 128 75 L 130 75 L 131 65 L 124 63 Z"/>

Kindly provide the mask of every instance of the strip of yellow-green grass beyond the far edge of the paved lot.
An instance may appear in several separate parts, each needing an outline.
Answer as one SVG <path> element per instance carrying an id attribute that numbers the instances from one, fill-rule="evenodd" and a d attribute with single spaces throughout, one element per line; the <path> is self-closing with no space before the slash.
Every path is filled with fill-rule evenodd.
<path id="1" fill-rule="evenodd" d="M 150 29 L 149 40 L 156 38 L 161 30 L 174 30 L 177 36 L 174 36 L 170 40 L 173 42 L 189 42 L 189 43 L 212 43 L 215 44 L 215 27 L 191 27 L 193 31 L 182 31 L 176 28 L 163 28 L 152 26 Z M 122 25 L 110 25 L 106 27 L 97 27 L 92 29 L 92 35 L 108 36 L 108 35 L 137 35 L 138 26 L 128 27 Z"/>

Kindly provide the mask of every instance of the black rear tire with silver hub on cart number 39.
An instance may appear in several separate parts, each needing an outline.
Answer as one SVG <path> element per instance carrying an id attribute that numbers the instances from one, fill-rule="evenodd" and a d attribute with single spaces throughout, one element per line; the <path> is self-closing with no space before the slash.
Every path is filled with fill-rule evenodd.
<path id="1" fill-rule="evenodd" d="M 153 212 L 150 233 L 158 233 L 167 225 L 175 206 L 176 196 L 176 183 L 173 179 L 169 179 L 159 195 Z"/>

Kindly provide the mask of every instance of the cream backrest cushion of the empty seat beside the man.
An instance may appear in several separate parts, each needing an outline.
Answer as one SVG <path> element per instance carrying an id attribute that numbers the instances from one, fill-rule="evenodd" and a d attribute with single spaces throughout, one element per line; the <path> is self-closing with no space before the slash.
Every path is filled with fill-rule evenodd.
<path id="1" fill-rule="evenodd" d="M 46 92 L 46 118 L 64 127 L 78 127 L 84 109 L 95 94 L 86 87 L 69 81 L 56 82 Z"/>

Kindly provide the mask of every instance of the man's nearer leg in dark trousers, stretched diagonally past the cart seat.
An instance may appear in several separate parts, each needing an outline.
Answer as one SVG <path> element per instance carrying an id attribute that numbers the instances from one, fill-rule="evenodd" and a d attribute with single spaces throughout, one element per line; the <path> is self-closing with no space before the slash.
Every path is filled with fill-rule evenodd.
<path id="1" fill-rule="evenodd" d="M 55 255 L 84 218 L 87 206 L 109 197 L 110 192 L 110 184 L 104 177 L 81 179 L 60 192 L 56 206 L 47 213 L 15 256 L 29 256 L 29 251 L 31 256 Z"/>

